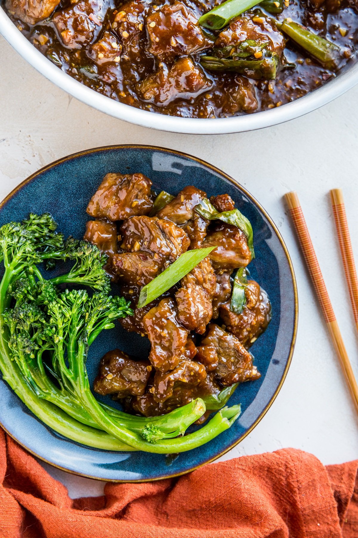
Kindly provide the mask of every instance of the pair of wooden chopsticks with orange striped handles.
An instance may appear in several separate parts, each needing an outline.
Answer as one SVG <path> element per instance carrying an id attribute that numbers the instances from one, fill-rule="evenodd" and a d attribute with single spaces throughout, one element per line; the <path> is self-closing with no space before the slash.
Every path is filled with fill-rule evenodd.
<path id="1" fill-rule="evenodd" d="M 293 220 L 296 233 L 303 251 L 303 256 L 311 275 L 313 286 L 317 293 L 318 301 L 330 332 L 335 352 L 337 353 L 341 368 L 345 374 L 346 382 L 352 396 L 356 412 L 358 413 L 358 386 L 354 377 L 352 366 L 350 365 L 345 344 L 335 318 L 332 303 L 328 296 L 321 270 L 318 265 L 315 250 L 313 249 L 311 237 L 304 219 L 301 205 L 299 204 L 297 193 L 286 194 L 291 218 Z M 346 280 L 349 289 L 350 301 L 352 302 L 354 321 L 358 329 L 358 280 L 354 265 L 352 244 L 347 225 L 346 210 L 341 189 L 331 190 L 331 201 L 335 225 L 341 256 L 343 260 Z"/>

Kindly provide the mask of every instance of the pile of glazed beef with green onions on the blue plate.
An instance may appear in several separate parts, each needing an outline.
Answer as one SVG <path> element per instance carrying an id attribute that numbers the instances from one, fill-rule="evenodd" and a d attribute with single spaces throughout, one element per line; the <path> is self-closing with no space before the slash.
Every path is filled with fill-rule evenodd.
<path id="1" fill-rule="evenodd" d="M 107 174 L 87 213 L 96 220 L 84 238 L 109 255 L 107 271 L 133 308 L 122 327 L 151 345 L 149 357 L 107 352 L 94 391 L 144 416 L 201 398 L 204 421 L 238 384 L 260 377 L 249 348 L 266 329 L 271 305 L 246 278 L 254 257 L 250 222 L 228 194 L 209 201 L 187 186 L 154 198 L 141 174 Z"/>

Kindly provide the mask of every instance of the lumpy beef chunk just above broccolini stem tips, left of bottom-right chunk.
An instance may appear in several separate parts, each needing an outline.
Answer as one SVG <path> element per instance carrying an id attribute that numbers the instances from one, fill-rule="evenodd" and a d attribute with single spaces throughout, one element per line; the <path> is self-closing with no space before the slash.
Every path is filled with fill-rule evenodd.
<path id="1" fill-rule="evenodd" d="M 156 372 L 151 392 L 154 399 L 164 402 L 173 395 L 174 386 L 186 384 L 188 387 L 198 385 L 206 379 L 204 366 L 192 360 L 183 360 L 170 372 Z"/>

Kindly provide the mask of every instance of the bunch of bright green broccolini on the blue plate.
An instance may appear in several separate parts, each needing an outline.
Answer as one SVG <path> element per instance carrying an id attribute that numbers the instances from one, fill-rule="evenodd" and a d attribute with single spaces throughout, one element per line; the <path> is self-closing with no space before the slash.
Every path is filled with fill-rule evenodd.
<path id="1" fill-rule="evenodd" d="M 230 427 L 236 407 L 215 415 L 206 429 L 173 438 L 202 416 L 202 400 L 167 415 L 135 417 L 94 398 L 85 366 L 89 346 L 101 330 L 114 327 L 116 318 L 132 312 L 123 298 L 108 294 L 102 268 L 106 257 L 97 247 L 71 238 L 64 241 L 49 214 L 31 214 L 21 223 L 2 226 L 0 251 L 5 268 L 0 283 L 0 369 L 47 426 L 91 447 L 162 454 L 190 450 Z M 44 279 L 36 264 L 60 259 L 72 260 L 74 266 L 62 277 Z M 72 283 L 96 291 L 57 286 Z M 148 440 L 143 431 L 151 432 Z"/>

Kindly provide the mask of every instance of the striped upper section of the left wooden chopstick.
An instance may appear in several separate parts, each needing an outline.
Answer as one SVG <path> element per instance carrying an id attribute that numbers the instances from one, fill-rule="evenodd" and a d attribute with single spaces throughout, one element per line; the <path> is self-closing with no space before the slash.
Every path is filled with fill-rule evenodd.
<path id="1" fill-rule="evenodd" d="M 313 244 L 306 225 L 306 221 L 302 213 L 302 208 L 299 205 L 297 194 L 289 194 L 292 194 L 293 196 L 288 197 L 288 195 L 286 195 L 286 199 L 288 202 L 291 218 L 295 225 L 299 244 L 301 245 L 304 259 L 311 274 L 312 283 L 315 287 L 315 291 L 317 293 L 318 301 L 320 307 L 322 308 L 325 321 L 326 323 L 330 323 L 331 321 L 335 321 L 335 315 L 320 267 L 318 265 L 317 256 L 315 250 L 313 249 Z"/>

